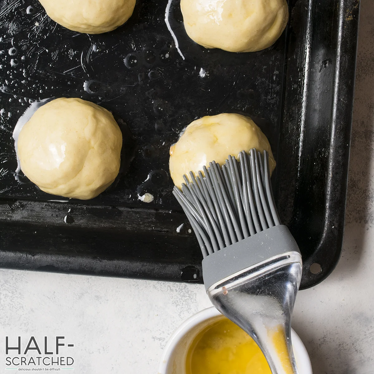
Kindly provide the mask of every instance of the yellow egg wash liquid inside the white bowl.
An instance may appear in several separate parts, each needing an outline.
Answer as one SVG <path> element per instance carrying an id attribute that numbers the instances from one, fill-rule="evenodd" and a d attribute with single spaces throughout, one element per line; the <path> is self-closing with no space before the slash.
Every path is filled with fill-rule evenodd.
<path id="1" fill-rule="evenodd" d="M 274 341 L 278 339 L 274 335 Z M 209 326 L 187 353 L 187 374 L 272 374 L 260 348 L 229 319 Z"/>

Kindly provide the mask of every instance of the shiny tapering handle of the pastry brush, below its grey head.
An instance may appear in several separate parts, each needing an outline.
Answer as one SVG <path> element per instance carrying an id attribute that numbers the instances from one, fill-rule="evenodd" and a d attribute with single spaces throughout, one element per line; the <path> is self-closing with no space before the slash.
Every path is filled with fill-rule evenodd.
<path id="1" fill-rule="evenodd" d="M 243 269 L 207 291 L 212 304 L 255 340 L 273 374 L 298 374 L 291 315 L 301 270 L 300 253 L 288 252 Z"/>

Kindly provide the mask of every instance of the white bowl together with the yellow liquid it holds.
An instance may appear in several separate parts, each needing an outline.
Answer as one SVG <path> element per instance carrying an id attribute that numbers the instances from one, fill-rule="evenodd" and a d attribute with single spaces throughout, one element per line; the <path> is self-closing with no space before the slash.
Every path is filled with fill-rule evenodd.
<path id="1" fill-rule="evenodd" d="M 292 346 L 300 374 L 312 374 L 307 350 L 295 331 Z M 185 321 L 166 344 L 159 374 L 272 374 L 255 341 L 215 307 Z"/>

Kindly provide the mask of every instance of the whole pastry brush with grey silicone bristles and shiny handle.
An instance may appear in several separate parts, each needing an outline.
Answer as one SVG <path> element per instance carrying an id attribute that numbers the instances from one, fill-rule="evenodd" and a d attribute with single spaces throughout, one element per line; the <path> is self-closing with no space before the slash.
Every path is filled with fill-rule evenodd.
<path id="1" fill-rule="evenodd" d="M 246 331 L 273 374 L 298 373 L 291 315 L 301 281 L 301 255 L 281 225 L 270 184 L 269 156 L 255 149 L 229 156 L 204 175 L 184 175 L 173 194 L 203 254 L 203 278 L 214 306 Z"/>

